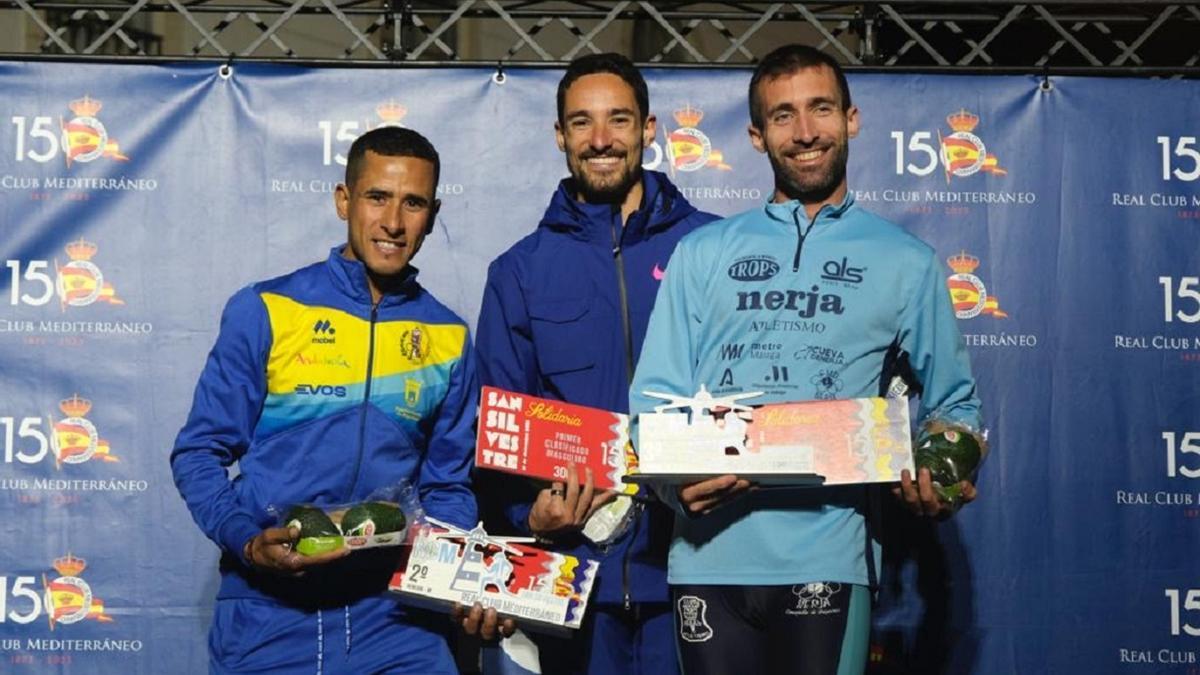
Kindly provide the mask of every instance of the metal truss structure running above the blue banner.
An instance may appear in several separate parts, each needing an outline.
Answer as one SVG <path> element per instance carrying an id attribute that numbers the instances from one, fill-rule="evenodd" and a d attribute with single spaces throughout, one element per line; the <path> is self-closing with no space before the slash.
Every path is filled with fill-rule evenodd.
<path id="1" fill-rule="evenodd" d="M 852 70 L 1200 76 L 1195 2 L 0 0 L 10 22 L 0 58 L 745 66 L 799 40 Z"/>

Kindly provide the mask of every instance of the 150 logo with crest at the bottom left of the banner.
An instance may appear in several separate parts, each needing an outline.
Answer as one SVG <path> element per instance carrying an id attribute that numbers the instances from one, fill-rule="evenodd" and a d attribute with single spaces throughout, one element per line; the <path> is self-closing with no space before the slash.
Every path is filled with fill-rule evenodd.
<path id="1" fill-rule="evenodd" d="M 41 593 L 36 577 L 0 577 L 0 623 L 31 623 L 43 614 L 53 631 L 58 625 L 70 625 L 91 619 L 103 623 L 113 617 L 106 614 L 104 603 L 79 575 L 88 562 L 67 554 L 54 560 L 59 573 L 54 579 L 41 575 Z"/>

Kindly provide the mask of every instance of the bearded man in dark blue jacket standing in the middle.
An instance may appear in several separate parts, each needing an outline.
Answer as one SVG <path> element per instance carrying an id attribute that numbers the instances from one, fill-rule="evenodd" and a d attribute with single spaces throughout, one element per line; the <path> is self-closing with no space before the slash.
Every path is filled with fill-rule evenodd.
<path id="1" fill-rule="evenodd" d="M 570 178 L 538 229 L 488 269 L 478 328 L 480 380 L 616 412 L 671 251 L 716 216 L 642 171 L 654 142 L 646 80 L 618 54 L 571 62 L 558 84 L 558 147 Z M 666 585 L 671 516 L 646 491 L 594 492 L 590 476 L 530 485 L 487 476 L 508 525 L 600 561 L 589 616 L 571 639 L 536 638 L 542 673 L 676 673 Z"/>

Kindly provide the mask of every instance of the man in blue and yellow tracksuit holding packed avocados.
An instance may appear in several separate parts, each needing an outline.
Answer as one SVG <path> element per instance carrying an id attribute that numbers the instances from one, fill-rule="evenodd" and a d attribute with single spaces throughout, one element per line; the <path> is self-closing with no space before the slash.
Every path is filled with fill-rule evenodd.
<path id="1" fill-rule="evenodd" d="M 298 531 L 277 526 L 293 504 L 400 483 L 432 516 L 476 518 L 467 327 L 409 264 L 439 205 L 437 151 L 380 129 L 354 143 L 346 174 L 335 203 L 347 245 L 229 300 L 170 455 L 222 551 L 214 673 L 456 671 L 446 619 L 384 595 L 397 549 L 301 556 Z"/>

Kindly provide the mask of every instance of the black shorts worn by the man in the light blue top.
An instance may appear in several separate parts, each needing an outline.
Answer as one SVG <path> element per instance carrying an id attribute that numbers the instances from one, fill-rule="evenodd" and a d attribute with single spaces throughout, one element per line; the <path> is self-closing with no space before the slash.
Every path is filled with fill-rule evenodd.
<path id="1" fill-rule="evenodd" d="M 859 675 L 870 591 L 839 583 L 672 586 L 684 675 Z"/>

